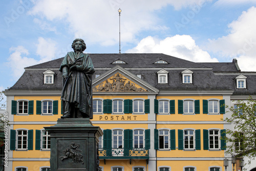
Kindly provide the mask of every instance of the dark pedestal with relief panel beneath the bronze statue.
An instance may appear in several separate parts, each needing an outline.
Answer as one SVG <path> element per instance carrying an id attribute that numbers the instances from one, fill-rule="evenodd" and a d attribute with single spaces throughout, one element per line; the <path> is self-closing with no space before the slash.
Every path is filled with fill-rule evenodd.
<path id="1" fill-rule="evenodd" d="M 98 139 L 103 133 L 89 118 L 58 119 L 45 127 L 51 134 L 51 171 L 96 171 Z"/>

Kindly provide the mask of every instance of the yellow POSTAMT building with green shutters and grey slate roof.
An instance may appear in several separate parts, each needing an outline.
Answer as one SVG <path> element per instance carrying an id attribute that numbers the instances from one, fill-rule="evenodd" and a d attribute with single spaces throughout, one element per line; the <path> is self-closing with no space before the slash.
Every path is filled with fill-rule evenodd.
<path id="1" fill-rule="evenodd" d="M 101 170 L 224 171 L 225 105 L 255 95 L 256 73 L 232 62 L 164 54 L 90 54 Z M 62 58 L 25 68 L 4 93 L 10 120 L 5 170 L 50 170 L 50 135 L 62 113 Z M 232 170 L 231 162 L 227 170 Z"/>

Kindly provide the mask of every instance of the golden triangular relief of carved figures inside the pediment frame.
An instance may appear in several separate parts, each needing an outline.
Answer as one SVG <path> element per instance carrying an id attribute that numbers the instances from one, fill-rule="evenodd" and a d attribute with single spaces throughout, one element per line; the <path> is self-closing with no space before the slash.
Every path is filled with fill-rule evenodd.
<path id="1" fill-rule="evenodd" d="M 93 88 L 93 92 L 146 92 L 133 81 L 116 73 Z"/>

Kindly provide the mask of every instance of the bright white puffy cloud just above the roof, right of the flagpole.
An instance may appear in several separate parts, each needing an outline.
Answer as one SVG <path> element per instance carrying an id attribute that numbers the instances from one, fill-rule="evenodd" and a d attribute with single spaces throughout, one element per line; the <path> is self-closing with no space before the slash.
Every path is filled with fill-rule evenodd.
<path id="1" fill-rule="evenodd" d="M 216 58 L 211 58 L 206 51 L 200 49 L 189 35 L 175 35 L 163 40 L 148 36 L 126 53 L 164 53 L 194 62 L 218 62 Z"/>

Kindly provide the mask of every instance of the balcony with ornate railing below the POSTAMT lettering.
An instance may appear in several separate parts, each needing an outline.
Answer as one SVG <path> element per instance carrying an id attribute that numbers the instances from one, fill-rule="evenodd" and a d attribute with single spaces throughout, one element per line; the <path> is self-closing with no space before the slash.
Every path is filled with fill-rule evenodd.
<path id="1" fill-rule="evenodd" d="M 100 148 L 99 159 L 149 159 L 147 148 Z"/>

